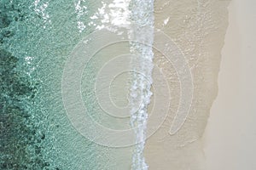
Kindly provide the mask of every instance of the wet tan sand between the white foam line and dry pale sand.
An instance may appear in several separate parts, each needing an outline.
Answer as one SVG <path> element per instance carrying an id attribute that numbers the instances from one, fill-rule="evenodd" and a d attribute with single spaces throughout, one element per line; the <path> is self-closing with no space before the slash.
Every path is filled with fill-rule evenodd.
<path id="1" fill-rule="evenodd" d="M 169 131 L 180 105 L 181 77 L 177 76 L 176 65 L 172 61 L 154 51 L 154 63 L 161 68 L 169 84 L 171 105 L 165 122 L 147 140 L 144 155 L 149 169 L 207 168 L 201 136 L 212 102 L 218 94 L 217 80 L 228 26 L 228 4 L 229 1 L 217 0 L 155 1 L 155 27 L 171 37 L 183 52 L 193 78 L 194 92 L 189 115 L 178 132 L 171 135 Z"/>

